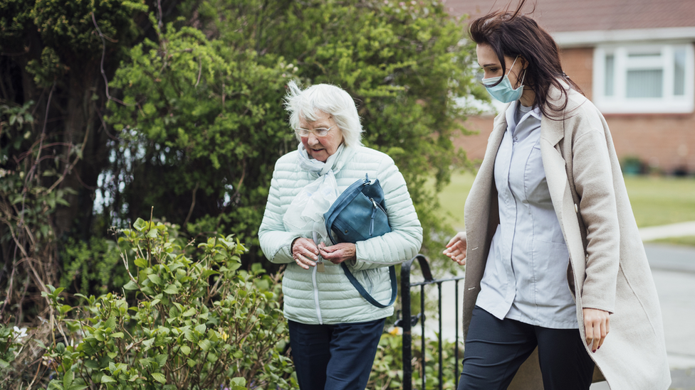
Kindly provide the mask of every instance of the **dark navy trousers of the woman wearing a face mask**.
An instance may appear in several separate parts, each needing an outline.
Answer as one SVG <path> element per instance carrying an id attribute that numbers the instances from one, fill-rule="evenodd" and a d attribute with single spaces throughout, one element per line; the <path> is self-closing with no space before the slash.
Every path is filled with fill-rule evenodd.
<path id="1" fill-rule="evenodd" d="M 545 390 L 587 390 L 594 362 L 578 329 L 549 329 L 499 320 L 475 307 L 458 390 L 504 390 L 538 346 Z"/>

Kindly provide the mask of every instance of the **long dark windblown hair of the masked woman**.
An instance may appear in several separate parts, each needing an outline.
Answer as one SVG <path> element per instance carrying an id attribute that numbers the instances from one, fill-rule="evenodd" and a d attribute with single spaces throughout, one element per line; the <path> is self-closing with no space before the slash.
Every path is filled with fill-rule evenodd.
<path id="1" fill-rule="evenodd" d="M 532 18 L 521 13 L 525 3 L 526 0 L 519 1 L 514 11 L 493 11 L 477 18 L 471 23 L 469 34 L 475 43 L 490 45 L 500 61 L 503 74 L 507 72 L 505 55 L 511 58 L 521 56 L 526 60 L 528 66 L 524 75 L 525 88 L 531 88 L 535 92 L 535 104 L 540 107 L 545 117 L 557 117 L 557 114 L 567 107 L 568 92 L 560 83 L 560 79 L 568 82 L 574 90 L 582 94 L 584 92 L 563 72 L 555 40 Z M 497 83 L 499 82 L 501 79 Z M 548 103 L 551 85 L 563 94 L 562 104 Z"/>

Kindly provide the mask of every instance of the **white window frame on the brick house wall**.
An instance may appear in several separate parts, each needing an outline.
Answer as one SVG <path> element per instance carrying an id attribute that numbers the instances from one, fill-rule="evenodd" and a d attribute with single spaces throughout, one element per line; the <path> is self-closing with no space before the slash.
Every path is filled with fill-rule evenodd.
<path id="1" fill-rule="evenodd" d="M 674 50 L 685 49 L 685 90 L 674 95 Z M 629 59 L 629 53 L 661 53 L 659 58 Z M 606 55 L 613 55 L 613 94 L 605 95 Z M 604 114 L 690 113 L 695 109 L 695 54 L 693 44 L 686 41 L 667 43 L 598 45 L 594 50 L 593 96 L 596 107 Z M 635 69 L 663 70 L 662 97 L 625 96 L 627 71 Z"/>

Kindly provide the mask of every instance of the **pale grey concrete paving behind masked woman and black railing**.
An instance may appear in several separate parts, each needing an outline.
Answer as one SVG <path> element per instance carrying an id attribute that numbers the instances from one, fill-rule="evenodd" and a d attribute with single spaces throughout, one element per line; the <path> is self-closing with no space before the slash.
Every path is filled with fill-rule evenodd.
<path id="1" fill-rule="evenodd" d="M 653 239 L 695 235 L 695 222 L 640 229 L 644 241 Z M 695 247 L 679 247 L 669 244 L 645 243 L 654 283 L 664 319 L 664 332 L 672 374 L 672 390 L 695 390 Z M 444 278 L 437 275 L 435 278 Z M 456 310 L 454 283 L 442 284 L 442 336 L 454 341 Z M 463 281 L 459 283 L 459 308 L 463 302 Z M 437 294 L 433 287 L 429 296 Z M 461 337 L 461 310 L 459 309 L 459 340 Z M 436 319 L 426 322 L 425 333 L 435 337 Z M 419 325 L 413 333 L 419 332 Z M 419 340 L 414 342 L 419 343 Z M 606 382 L 593 384 L 590 390 L 608 390 Z"/>

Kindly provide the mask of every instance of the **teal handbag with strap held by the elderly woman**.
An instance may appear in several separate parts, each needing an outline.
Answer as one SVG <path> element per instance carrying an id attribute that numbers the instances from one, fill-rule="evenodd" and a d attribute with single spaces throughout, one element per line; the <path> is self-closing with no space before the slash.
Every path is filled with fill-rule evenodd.
<path id="1" fill-rule="evenodd" d="M 338 244 L 338 242 L 352 242 L 352 244 L 355 244 L 355 242 L 365 241 L 366 239 L 379 237 L 391 232 L 389 217 L 386 214 L 384 190 L 382 190 L 379 184 L 379 179 L 371 183 L 367 174 L 365 174 L 364 180 L 357 180 L 340 194 L 338 199 L 330 206 L 330 209 L 325 212 L 323 219 L 325 220 L 328 237 L 333 244 Z M 389 267 L 391 300 L 386 305 L 377 302 L 367 293 L 365 288 L 352 275 L 345 262 L 340 263 L 340 266 L 345 271 L 345 276 L 348 277 L 352 286 L 369 303 L 377 306 L 377 308 L 387 308 L 393 305 L 397 294 L 396 269 L 394 266 Z"/>

